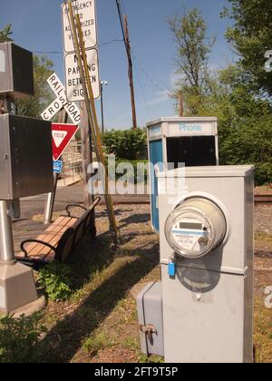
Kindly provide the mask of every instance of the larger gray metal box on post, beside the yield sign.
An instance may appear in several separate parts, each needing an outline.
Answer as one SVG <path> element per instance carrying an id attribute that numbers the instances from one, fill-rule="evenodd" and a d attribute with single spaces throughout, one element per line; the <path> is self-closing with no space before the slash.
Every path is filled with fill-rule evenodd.
<path id="1" fill-rule="evenodd" d="M 0 200 L 53 190 L 51 122 L 0 115 Z"/>

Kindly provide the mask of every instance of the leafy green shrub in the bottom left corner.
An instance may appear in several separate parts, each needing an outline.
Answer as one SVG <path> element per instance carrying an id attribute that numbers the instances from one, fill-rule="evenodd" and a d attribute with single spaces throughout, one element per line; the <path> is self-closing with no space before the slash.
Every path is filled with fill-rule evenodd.
<path id="1" fill-rule="evenodd" d="M 31 363 L 38 359 L 36 350 L 46 328 L 40 324 L 41 314 L 0 319 L 0 363 Z"/>

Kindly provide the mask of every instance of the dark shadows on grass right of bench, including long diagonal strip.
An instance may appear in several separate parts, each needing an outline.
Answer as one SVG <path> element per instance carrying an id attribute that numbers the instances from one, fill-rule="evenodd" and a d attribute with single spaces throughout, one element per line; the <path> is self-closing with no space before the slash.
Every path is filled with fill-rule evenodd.
<path id="1" fill-rule="evenodd" d="M 125 240 L 129 241 L 130 238 Z M 43 354 L 39 359 L 41 362 L 69 363 L 83 346 L 83 340 L 90 337 L 131 288 L 159 264 L 157 242 L 149 241 L 137 249 L 112 251 L 110 241 L 107 233 L 95 242 L 83 239 L 78 252 L 70 260 L 78 289 L 90 281 L 93 272 L 105 269 L 115 260 L 123 262 L 112 277 L 106 278 L 94 288 L 72 314 L 57 322 L 44 337 L 38 348 Z"/>

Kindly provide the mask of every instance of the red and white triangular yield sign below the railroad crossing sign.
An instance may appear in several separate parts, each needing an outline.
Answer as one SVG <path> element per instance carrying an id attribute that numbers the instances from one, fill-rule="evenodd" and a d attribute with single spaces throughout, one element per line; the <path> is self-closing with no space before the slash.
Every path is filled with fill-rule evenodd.
<path id="1" fill-rule="evenodd" d="M 74 124 L 52 123 L 53 160 L 57 161 L 73 139 L 78 127 Z"/>

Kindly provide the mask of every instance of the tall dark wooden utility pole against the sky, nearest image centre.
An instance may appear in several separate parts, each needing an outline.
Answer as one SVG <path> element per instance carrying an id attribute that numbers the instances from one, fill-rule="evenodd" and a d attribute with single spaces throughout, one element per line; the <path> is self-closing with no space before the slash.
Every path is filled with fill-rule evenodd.
<path id="1" fill-rule="evenodd" d="M 135 130 L 138 125 L 137 125 L 136 106 L 135 106 L 133 67 L 132 67 L 132 59 L 131 59 L 131 41 L 130 41 L 129 26 L 128 26 L 128 16 L 127 15 L 122 16 L 120 0 L 116 0 L 116 5 L 118 9 L 119 18 L 120 18 L 123 41 L 124 41 L 127 56 L 128 56 L 129 80 L 130 80 L 130 86 L 131 86 L 132 127 Z"/>

